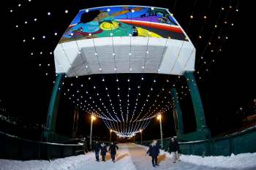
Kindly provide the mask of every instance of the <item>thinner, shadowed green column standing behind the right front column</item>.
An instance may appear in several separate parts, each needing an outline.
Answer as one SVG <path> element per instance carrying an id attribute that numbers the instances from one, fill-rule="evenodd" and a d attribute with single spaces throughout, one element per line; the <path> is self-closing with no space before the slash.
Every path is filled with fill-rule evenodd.
<path id="1" fill-rule="evenodd" d="M 176 88 L 172 88 L 171 96 L 174 102 L 173 118 L 174 118 L 174 123 L 176 128 L 176 135 L 179 137 L 184 134 L 184 127 L 183 127 L 181 107 L 178 102 L 178 94 L 177 94 Z"/>

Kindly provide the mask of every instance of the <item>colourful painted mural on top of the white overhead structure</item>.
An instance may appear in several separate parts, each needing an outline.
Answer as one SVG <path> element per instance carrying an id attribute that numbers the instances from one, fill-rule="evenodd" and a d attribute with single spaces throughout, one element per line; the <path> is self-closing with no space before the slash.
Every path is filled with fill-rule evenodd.
<path id="1" fill-rule="evenodd" d="M 99 7 L 81 10 L 60 42 L 108 36 L 150 36 L 186 40 L 166 9 L 154 7 Z"/>

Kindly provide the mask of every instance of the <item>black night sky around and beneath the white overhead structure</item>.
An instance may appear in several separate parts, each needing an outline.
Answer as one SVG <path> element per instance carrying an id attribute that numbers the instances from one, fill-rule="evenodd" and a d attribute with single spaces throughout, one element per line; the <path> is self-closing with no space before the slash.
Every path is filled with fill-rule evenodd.
<path id="1" fill-rule="evenodd" d="M 249 10 L 246 11 L 244 4 L 239 4 L 238 0 L 176 0 L 169 3 L 160 0 L 8 1 L 2 9 L 4 15 L 2 15 L 1 25 L 0 62 L 0 99 L 8 113 L 13 117 L 19 117 L 20 120 L 26 123 L 45 124 L 53 81 L 56 78 L 53 55 L 50 52 L 53 52 L 61 35 L 80 9 L 116 4 L 165 7 L 174 14 L 197 50 L 195 77 L 205 109 L 206 123 L 211 133 L 216 135 L 230 128 L 236 128 L 239 119 L 236 112 L 256 97 L 255 55 L 252 53 L 253 43 L 250 42 L 253 38 L 248 30 L 249 23 L 244 22 L 244 18 L 249 15 L 246 12 L 249 13 Z M 48 12 L 50 13 L 48 14 Z M 218 17 L 219 22 L 215 28 Z M 35 18 L 37 19 L 35 20 Z M 57 34 L 55 35 L 55 33 Z M 40 54 L 41 52 L 42 54 Z M 201 58 L 202 56 L 203 58 Z M 128 89 L 128 76 L 131 80 L 132 92 L 129 98 L 130 111 L 132 112 L 135 107 L 135 99 L 132 98 L 136 98 L 138 95 L 137 86 L 141 74 L 118 75 L 118 83 L 122 89 Z M 96 85 L 102 100 L 107 104 L 108 97 L 104 95 L 105 86 L 102 84 L 102 76 L 92 75 L 90 77 L 91 80 L 87 76 L 67 78 L 63 89 L 67 90 L 68 85 L 73 83 L 73 92 L 75 93 L 80 88 L 81 83 L 85 83 L 88 85 L 87 88 L 91 92 L 91 96 L 97 98 L 96 93 L 92 92 L 94 91 L 94 85 Z M 192 104 L 188 90 L 185 88 L 184 78 L 160 74 L 145 74 L 143 77 L 144 81 L 140 86 L 141 101 L 138 107 L 142 107 L 154 79 L 157 82 L 154 85 L 151 98 L 149 98 L 150 104 L 147 106 L 151 106 L 154 101 L 152 98 L 157 94 L 159 94 L 159 101 L 157 102 L 161 107 L 168 105 L 170 98 L 164 96 L 175 82 L 181 97 L 185 132 L 195 130 L 195 117 L 192 114 Z M 118 109 L 115 80 L 115 74 L 105 75 L 105 83 L 110 87 L 110 96 L 113 96 L 111 98 L 113 105 Z M 166 80 L 169 82 L 166 82 Z M 161 92 L 164 84 L 166 84 L 165 91 Z M 187 93 L 186 96 L 185 93 Z M 86 95 L 86 93 L 83 95 Z M 122 101 L 125 101 L 126 96 L 127 90 L 125 90 L 125 93 L 121 93 L 121 98 L 124 98 Z M 107 107 L 110 108 L 110 106 Z M 62 93 L 57 120 L 57 132 L 59 134 L 71 134 L 74 108 L 75 105 Z M 162 116 L 164 137 L 175 135 L 170 106 Z M 79 118 L 78 134 L 89 135 L 90 120 L 88 112 L 80 109 Z M 109 135 L 108 133 L 109 131 L 103 121 L 97 119 L 94 122 L 94 136 L 108 139 L 106 137 Z M 148 140 L 160 137 L 159 123 L 156 118 L 153 118 L 151 123 L 148 124 L 143 136 L 145 136 L 144 139 Z"/>

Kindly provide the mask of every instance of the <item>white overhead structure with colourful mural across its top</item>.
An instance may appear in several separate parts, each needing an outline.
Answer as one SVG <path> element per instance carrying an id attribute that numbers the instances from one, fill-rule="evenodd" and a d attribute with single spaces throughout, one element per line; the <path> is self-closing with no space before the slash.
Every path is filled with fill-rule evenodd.
<path id="1" fill-rule="evenodd" d="M 78 12 L 54 50 L 56 73 L 194 71 L 195 47 L 168 9 L 110 6 Z"/>

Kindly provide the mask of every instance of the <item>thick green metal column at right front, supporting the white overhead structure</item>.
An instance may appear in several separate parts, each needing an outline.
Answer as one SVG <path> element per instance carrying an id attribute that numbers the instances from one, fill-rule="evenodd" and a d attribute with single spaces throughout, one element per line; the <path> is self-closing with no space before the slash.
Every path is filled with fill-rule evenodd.
<path id="1" fill-rule="evenodd" d="M 210 131 L 206 126 L 206 118 L 204 115 L 203 104 L 201 101 L 200 93 L 197 88 L 197 82 L 193 72 L 185 72 L 184 77 L 187 80 L 187 85 L 189 86 L 190 96 L 192 98 L 192 104 L 195 112 L 195 120 L 197 123 L 197 134 L 198 139 L 208 139 L 210 138 Z"/>

